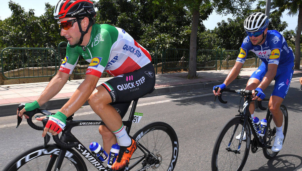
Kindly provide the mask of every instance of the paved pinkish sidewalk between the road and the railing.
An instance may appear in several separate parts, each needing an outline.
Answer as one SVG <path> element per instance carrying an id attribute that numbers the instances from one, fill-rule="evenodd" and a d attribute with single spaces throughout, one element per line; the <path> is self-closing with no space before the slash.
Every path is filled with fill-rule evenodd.
<path id="1" fill-rule="evenodd" d="M 302 68 L 302 66 L 300 66 Z M 235 79 L 231 85 L 246 84 L 255 68 L 245 68 L 240 72 L 240 79 Z M 199 89 L 212 89 L 214 85 L 221 84 L 226 78 L 230 69 L 221 71 L 198 71 L 198 79 L 187 79 L 188 72 L 156 74 L 155 90 L 146 95 L 156 96 L 173 94 L 179 92 L 194 91 Z M 302 70 L 294 71 L 294 77 L 301 77 Z M 110 78 L 101 78 L 97 85 L 106 82 Z M 72 96 L 73 92 L 83 80 L 71 80 L 66 83 L 63 89 L 49 102 L 41 106 L 43 109 L 59 109 Z M 0 86 L 0 117 L 15 115 L 20 103 L 33 102 L 45 89 L 48 82 L 1 85 Z M 88 105 L 86 102 L 85 105 Z"/>

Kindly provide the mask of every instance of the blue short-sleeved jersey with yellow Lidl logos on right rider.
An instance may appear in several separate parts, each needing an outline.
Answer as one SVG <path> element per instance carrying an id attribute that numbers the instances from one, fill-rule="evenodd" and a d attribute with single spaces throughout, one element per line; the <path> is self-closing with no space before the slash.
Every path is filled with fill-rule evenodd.
<path id="1" fill-rule="evenodd" d="M 266 65 L 273 63 L 284 66 L 294 62 L 293 51 L 288 47 L 284 37 L 276 30 L 267 31 L 265 42 L 262 45 L 254 46 L 249 36 L 246 36 L 236 62 L 244 63 L 249 50 L 254 52 Z"/>

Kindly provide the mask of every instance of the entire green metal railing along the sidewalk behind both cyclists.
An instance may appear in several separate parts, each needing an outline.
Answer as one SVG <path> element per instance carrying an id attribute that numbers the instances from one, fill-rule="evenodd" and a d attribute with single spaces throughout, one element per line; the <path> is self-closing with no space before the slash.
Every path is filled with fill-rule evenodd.
<path id="1" fill-rule="evenodd" d="M 5 48 L 1 51 L 1 73 L 6 79 L 34 78 L 54 76 L 66 56 L 67 42 L 61 42 L 58 49 L 52 48 Z M 188 49 L 164 49 L 162 45 L 156 48 L 146 48 L 152 58 L 152 64 L 156 70 L 187 69 L 189 66 Z M 196 53 L 197 69 L 221 69 L 233 67 L 239 50 L 223 50 L 220 46 L 216 50 L 199 49 Z M 301 53 L 302 55 L 302 53 Z M 244 66 L 259 64 L 259 58 L 255 53 L 249 52 Z M 302 60 L 301 60 L 302 64 Z M 73 74 L 86 73 L 88 62 L 80 56 Z"/>

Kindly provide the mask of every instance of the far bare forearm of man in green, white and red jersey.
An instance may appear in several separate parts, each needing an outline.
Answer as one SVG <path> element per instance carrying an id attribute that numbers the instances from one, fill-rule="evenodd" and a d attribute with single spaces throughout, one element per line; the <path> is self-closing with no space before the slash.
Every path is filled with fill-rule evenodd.
<path id="1" fill-rule="evenodd" d="M 65 74 L 65 73 L 64 73 Z M 51 98 L 53 98 L 55 95 L 61 91 L 63 86 L 66 84 L 68 80 L 68 76 L 62 77 L 61 73 L 59 72 L 56 74 L 53 79 L 50 80 L 44 91 L 40 94 L 40 96 L 37 98 L 37 102 L 40 106 L 48 102 Z"/>

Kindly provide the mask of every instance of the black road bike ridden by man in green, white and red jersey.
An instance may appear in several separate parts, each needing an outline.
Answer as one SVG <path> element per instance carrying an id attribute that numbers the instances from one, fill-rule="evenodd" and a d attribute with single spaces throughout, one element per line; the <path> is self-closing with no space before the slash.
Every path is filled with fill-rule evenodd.
<path id="1" fill-rule="evenodd" d="M 133 100 L 129 119 L 127 121 L 123 121 L 128 134 L 130 133 L 132 123 L 137 119 L 134 115 L 137 102 L 138 98 Z M 37 113 L 41 113 L 43 116 L 52 115 L 52 113 L 43 109 L 36 109 L 26 113 L 24 112 L 24 114 L 30 117 L 27 119 L 27 123 L 32 128 L 43 130 L 47 122 L 46 120 L 43 120 L 44 126 L 38 126 L 32 122 L 32 117 Z M 104 166 L 105 163 L 101 163 L 101 161 L 71 133 L 73 127 L 105 125 L 104 122 L 101 120 L 73 120 L 72 116 L 67 118 L 66 127 L 60 134 L 60 138 L 59 135 L 53 136 L 53 140 L 56 144 L 47 144 L 50 140 L 50 136 L 47 134 L 47 136 L 44 137 L 44 145 L 34 147 L 16 156 L 8 163 L 3 171 L 87 171 L 87 166 L 81 155 L 95 166 L 97 170 L 110 171 L 111 169 L 108 166 Z M 21 118 L 18 117 L 18 125 L 20 123 Z M 153 122 L 147 124 L 137 131 L 131 138 L 136 140 L 137 150 L 133 153 L 129 161 L 129 165 L 120 169 L 120 171 L 170 171 L 175 168 L 178 158 L 178 138 L 174 129 L 169 124 L 164 122 Z"/>

